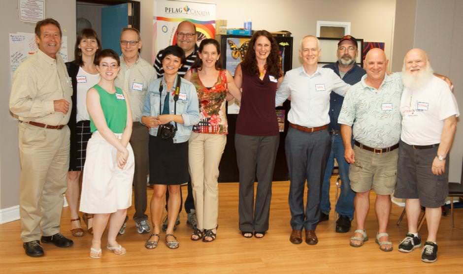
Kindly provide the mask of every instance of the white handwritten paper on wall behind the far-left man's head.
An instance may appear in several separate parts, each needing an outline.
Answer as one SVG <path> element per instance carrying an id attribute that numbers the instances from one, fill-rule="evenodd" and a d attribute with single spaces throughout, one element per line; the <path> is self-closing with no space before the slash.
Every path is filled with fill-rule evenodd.
<path id="1" fill-rule="evenodd" d="M 29 56 L 37 51 L 37 43 L 35 43 L 35 34 L 29 32 L 17 32 L 9 34 L 10 46 L 10 77 L 13 79 L 13 74 L 18 66 Z M 63 61 L 67 62 L 67 36 L 61 37 L 61 48 L 59 51 Z"/>

